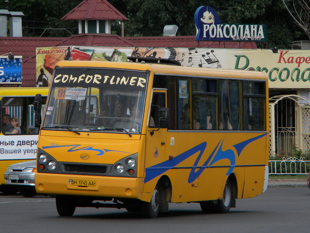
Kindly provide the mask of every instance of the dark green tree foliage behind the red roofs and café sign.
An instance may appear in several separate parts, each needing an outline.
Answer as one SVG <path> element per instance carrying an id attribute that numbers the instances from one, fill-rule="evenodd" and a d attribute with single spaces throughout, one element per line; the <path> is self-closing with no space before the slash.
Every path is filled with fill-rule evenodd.
<path id="1" fill-rule="evenodd" d="M 296 1 L 296 0 L 295 0 Z M 300 0 L 303 1 L 303 0 Z M 47 28 L 63 28 L 71 34 L 78 33 L 78 22 L 60 20 L 82 0 L 9 0 L 1 1 L 0 9 L 22 11 L 24 36 L 41 36 Z M 263 48 L 290 48 L 290 42 L 308 39 L 294 24 L 282 0 L 109 0 L 125 15 L 125 36 L 162 36 L 165 25 L 177 25 L 177 36 L 196 35 L 194 23 L 198 7 L 213 7 L 222 23 L 266 24 L 266 43 Z M 66 30 L 45 30 L 42 36 L 69 36 Z M 121 35 L 118 21 L 111 22 L 111 31 Z"/>

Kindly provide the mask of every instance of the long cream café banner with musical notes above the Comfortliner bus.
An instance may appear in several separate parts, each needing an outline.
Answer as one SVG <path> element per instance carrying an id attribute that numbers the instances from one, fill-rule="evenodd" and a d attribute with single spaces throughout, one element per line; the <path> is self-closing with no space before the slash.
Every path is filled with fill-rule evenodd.
<path id="1" fill-rule="evenodd" d="M 157 57 L 175 59 L 183 66 L 260 71 L 268 76 L 270 88 L 310 89 L 309 50 L 71 46 L 70 53 L 73 60 L 128 62 L 127 56 Z M 37 77 L 41 67 L 48 69 L 53 61 L 37 57 Z"/>

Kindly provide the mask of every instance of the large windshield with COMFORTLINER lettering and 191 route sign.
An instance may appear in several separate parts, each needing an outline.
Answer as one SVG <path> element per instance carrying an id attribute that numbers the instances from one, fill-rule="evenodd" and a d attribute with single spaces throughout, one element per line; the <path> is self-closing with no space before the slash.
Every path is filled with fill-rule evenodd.
<path id="1" fill-rule="evenodd" d="M 141 132 L 147 75 L 103 68 L 55 69 L 42 128 Z"/>

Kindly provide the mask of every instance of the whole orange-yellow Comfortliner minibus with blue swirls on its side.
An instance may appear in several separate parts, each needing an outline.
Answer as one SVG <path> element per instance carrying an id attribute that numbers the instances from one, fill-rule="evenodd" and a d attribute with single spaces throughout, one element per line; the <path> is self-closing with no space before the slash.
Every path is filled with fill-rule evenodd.
<path id="1" fill-rule="evenodd" d="M 128 58 L 55 67 L 35 186 L 56 195 L 60 216 L 110 207 L 157 217 L 184 202 L 225 213 L 266 190 L 265 74 Z"/>

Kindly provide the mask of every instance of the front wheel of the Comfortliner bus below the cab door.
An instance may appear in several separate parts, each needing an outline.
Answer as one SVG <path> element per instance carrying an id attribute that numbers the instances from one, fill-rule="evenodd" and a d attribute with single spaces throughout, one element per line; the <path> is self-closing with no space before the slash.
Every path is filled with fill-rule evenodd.
<path id="1" fill-rule="evenodd" d="M 140 212 L 141 215 L 146 218 L 156 218 L 159 212 L 159 195 L 162 195 L 159 193 L 158 186 L 155 186 L 155 189 L 152 194 L 152 198 L 150 202 L 141 201 L 140 203 Z"/>

